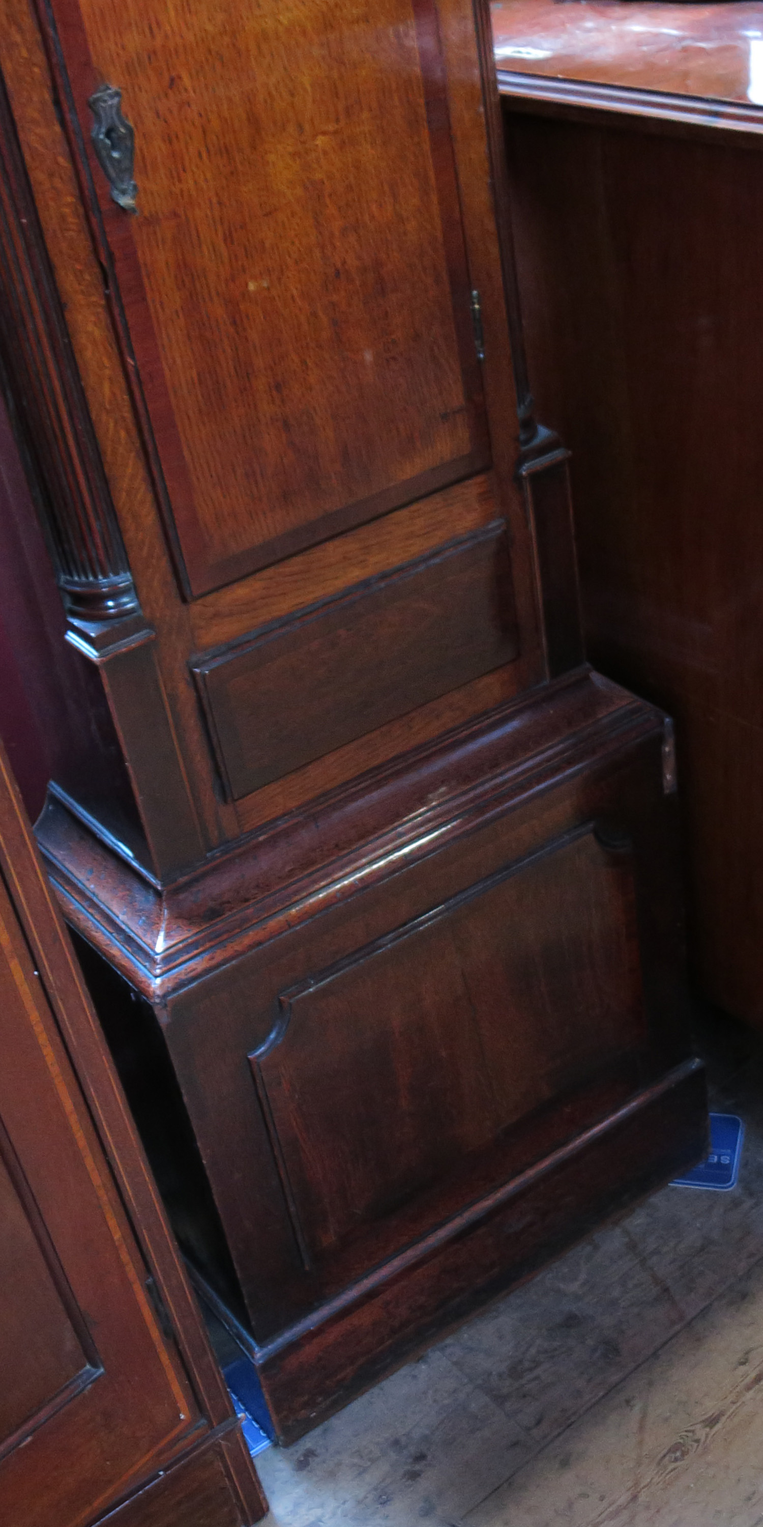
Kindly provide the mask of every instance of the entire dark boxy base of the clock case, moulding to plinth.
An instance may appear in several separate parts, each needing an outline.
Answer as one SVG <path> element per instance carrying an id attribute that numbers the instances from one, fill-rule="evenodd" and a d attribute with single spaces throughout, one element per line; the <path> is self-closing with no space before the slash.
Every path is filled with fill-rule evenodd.
<path id="1" fill-rule="evenodd" d="M 661 713 L 578 670 L 285 818 L 171 899 L 93 858 L 49 806 L 67 916 L 130 983 L 119 996 L 87 957 L 104 1011 L 133 1044 L 130 991 L 146 1034 L 162 1014 L 238 1296 L 185 1211 L 177 1229 L 227 1310 L 241 1299 L 282 1437 L 522 1275 L 519 1251 L 505 1258 L 513 1183 L 549 1151 L 575 1139 L 584 1154 L 623 1107 L 656 1109 L 649 1180 L 665 1151 L 697 1150 L 694 1072 L 667 1080 L 690 1052 L 662 744 Z M 153 1075 L 146 1051 L 137 1110 Z M 175 1185 L 180 1142 L 157 1142 Z M 645 1182 L 600 1148 L 598 1185 L 581 1164 L 551 1220 L 539 1188 L 528 1255 Z M 194 1182 L 175 1191 L 188 1203 Z"/>

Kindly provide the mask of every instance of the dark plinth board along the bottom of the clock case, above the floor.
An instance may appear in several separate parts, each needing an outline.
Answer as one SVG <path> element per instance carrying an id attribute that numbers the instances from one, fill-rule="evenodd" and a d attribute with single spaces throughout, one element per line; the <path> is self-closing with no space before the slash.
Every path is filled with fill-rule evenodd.
<path id="1" fill-rule="evenodd" d="M 705 1107 L 697 1061 L 623 1107 L 612 1099 L 598 1127 L 539 1159 L 517 1191 L 496 1193 L 476 1223 L 467 1211 L 427 1258 L 401 1267 L 343 1319 L 305 1321 L 299 1339 L 264 1353 L 259 1373 L 279 1440 L 296 1441 L 316 1416 L 325 1419 L 415 1356 L 423 1341 L 533 1277 L 603 1215 L 696 1164 L 707 1151 Z"/>

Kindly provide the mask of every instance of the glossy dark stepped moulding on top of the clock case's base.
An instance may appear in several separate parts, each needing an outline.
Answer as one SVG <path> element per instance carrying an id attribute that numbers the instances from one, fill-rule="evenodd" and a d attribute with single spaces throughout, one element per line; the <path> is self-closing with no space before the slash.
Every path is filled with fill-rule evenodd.
<path id="1" fill-rule="evenodd" d="M 90 938 L 95 919 L 98 947 L 111 964 L 150 1000 L 163 1002 L 221 970 L 252 938 L 259 944 L 293 927 L 293 912 L 285 915 L 293 881 L 308 890 L 304 915 L 313 896 L 316 909 L 330 906 L 337 863 L 340 883 L 345 875 L 359 887 L 372 883 L 391 854 L 418 858 L 432 841 L 468 832 L 473 814 L 490 802 L 499 809 L 505 797 L 531 799 L 554 777 L 560 750 L 577 768 L 597 747 L 618 748 L 624 739 L 635 745 L 662 734 L 661 727 L 652 707 L 578 670 L 266 823 L 166 887 L 119 860 L 56 799 L 49 799 L 35 831 L 69 921 Z M 531 843 L 530 818 L 523 831 L 530 835 L 522 844 Z"/>

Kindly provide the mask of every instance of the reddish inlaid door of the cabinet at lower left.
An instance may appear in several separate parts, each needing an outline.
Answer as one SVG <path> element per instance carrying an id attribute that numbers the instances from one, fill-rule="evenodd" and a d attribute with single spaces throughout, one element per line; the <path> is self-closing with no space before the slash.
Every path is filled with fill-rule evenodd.
<path id="1" fill-rule="evenodd" d="M 0 1519 L 90 1521 L 197 1419 L 0 881 Z"/>

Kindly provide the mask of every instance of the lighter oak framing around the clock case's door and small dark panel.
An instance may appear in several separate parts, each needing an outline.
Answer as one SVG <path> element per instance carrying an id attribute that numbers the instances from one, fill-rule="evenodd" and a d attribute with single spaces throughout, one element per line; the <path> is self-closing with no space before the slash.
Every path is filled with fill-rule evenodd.
<path id="1" fill-rule="evenodd" d="M 407 508 L 382 515 L 368 527 L 360 527 L 359 531 L 334 538 L 307 553 L 282 560 L 266 574 L 253 574 L 238 583 L 227 585 L 227 589 L 206 596 L 206 600 L 198 602 L 198 621 L 195 606 L 188 606 L 179 597 L 169 548 L 159 528 L 159 504 L 156 495 L 151 498 L 146 478 L 146 464 L 151 466 L 150 443 L 145 432 L 142 440 L 136 432 L 125 388 L 125 371 L 131 377 L 134 366 L 122 348 L 124 371 L 121 371 L 118 350 L 113 339 L 110 341 L 113 321 L 118 324 L 118 331 L 122 333 L 119 328 L 121 310 L 114 312 L 113 307 L 114 279 L 110 278 L 105 290 L 102 284 L 102 266 L 108 266 L 113 255 L 108 243 L 104 243 L 99 234 L 96 235 L 96 253 L 82 228 L 82 209 L 75 179 L 76 166 L 84 173 L 79 150 L 75 145 L 72 163 L 70 142 L 67 144 L 61 119 L 50 107 L 49 66 L 31 14 L 18 12 L 14 6 L 8 6 L 3 14 L 5 37 L 8 38 L 3 69 L 23 147 L 21 174 L 15 174 L 14 180 L 15 200 L 11 199 L 11 212 L 17 217 L 20 228 L 17 241 L 20 241 L 23 258 L 34 266 L 38 261 L 38 241 L 44 237 L 46 258 L 52 263 L 52 270 L 46 278 L 43 308 L 50 301 L 50 290 L 58 286 L 63 302 L 66 302 L 72 353 L 78 362 L 87 406 L 96 429 L 140 608 L 148 623 L 146 629 L 156 632 L 151 664 L 156 667 L 154 695 L 159 709 L 153 713 L 148 727 L 143 725 L 142 731 L 140 728 L 136 731 L 130 716 L 125 716 L 125 725 L 122 725 L 122 716 L 116 715 L 128 689 L 121 686 L 118 692 L 116 687 L 108 686 L 111 658 L 107 652 L 101 652 L 98 657 L 99 678 L 96 684 L 96 687 L 102 686 L 107 690 L 105 709 L 114 715 L 118 730 L 131 754 L 128 770 L 136 797 L 133 809 L 142 823 L 142 831 L 151 840 L 139 857 L 154 875 L 166 878 L 177 873 L 188 867 L 189 857 L 201 861 L 204 852 L 214 849 L 220 841 L 235 837 L 243 825 L 240 812 L 220 800 L 217 768 L 201 707 L 192 684 L 188 683 L 188 660 L 203 651 L 209 644 L 209 638 L 214 644 L 220 640 L 246 637 L 258 629 L 262 618 L 273 618 L 276 612 L 287 615 L 328 592 L 340 592 L 359 577 L 371 579 L 385 574 L 392 567 L 400 565 L 406 556 L 420 554 L 427 547 L 435 550 L 453 534 L 464 533 L 468 528 L 467 516 L 472 519 L 475 515 L 472 524 L 475 521 L 485 522 L 496 513 L 507 518 L 511 536 L 514 602 L 520 629 L 516 672 L 507 673 L 501 681 L 496 680 L 493 687 L 485 687 L 478 681 L 473 692 L 461 684 L 453 692 L 452 707 L 443 701 L 427 701 L 418 707 L 415 715 L 407 712 L 404 724 L 391 724 L 392 730 L 385 739 L 378 738 L 375 731 L 369 734 L 366 756 L 359 739 L 357 744 L 349 745 L 349 751 L 343 745 L 327 754 L 325 770 L 316 762 L 316 765 L 308 767 L 307 773 L 291 771 L 288 785 L 276 793 L 278 799 L 273 796 L 272 786 L 264 786 L 269 794 L 262 794 L 261 802 L 247 800 L 244 826 L 249 822 L 266 820 L 269 811 L 290 809 L 342 779 L 349 779 L 359 768 L 372 767 L 382 756 L 392 757 L 410 745 L 410 741 L 420 742 L 435 736 L 443 727 L 459 724 L 468 715 L 479 713 L 485 704 L 494 704 L 543 676 L 545 658 L 539 641 L 540 606 L 534 573 L 536 553 L 528 533 L 522 496 L 514 483 L 519 421 L 511 423 L 516 420 L 516 397 L 511 370 L 505 363 L 510 334 L 504 270 L 494 224 L 493 186 L 496 174 L 491 150 L 488 150 L 481 125 L 484 110 L 481 55 L 472 21 L 464 26 L 461 9 L 461 0 L 453 5 L 449 0 L 438 24 L 447 81 L 450 145 L 459 179 L 461 228 L 467 247 L 470 281 L 481 293 L 485 339 L 481 371 L 494 461 L 494 473 L 490 478 L 494 513 L 485 515 L 485 479 L 478 475 L 472 479 L 475 483 L 473 499 L 470 499 L 472 490 L 468 479 L 465 479 L 446 489 L 441 495 L 430 493 L 427 499 L 420 499 Z M 47 32 L 47 21 L 44 21 L 44 31 Z M 49 41 L 52 43 L 50 37 Z M 52 55 L 55 69 L 58 69 L 56 60 L 58 53 Z M 31 79 L 35 82 L 34 90 L 31 90 Z M 69 86 L 64 75 L 60 75 L 58 89 L 66 105 Z M 494 92 L 493 86 L 491 89 Z M 89 111 L 85 116 L 90 121 Z M 67 111 L 64 111 L 64 121 L 66 118 Z M 55 151 L 50 159 L 52 145 L 55 145 Z M 29 174 L 31 183 L 21 195 L 24 173 Z M 118 218 L 118 229 L 121 218 L 137 224 L 139 218 L 130 220 L 128 214 L 122 215 L 122 211 L 110 203 L 107 195 L 105 200 L 108 205 L 104 206 L 104 217 L 107 212 L 113 212 Z M 130 234 L 130 237 L 133 235 Z M 406 267 L 401 279 L 406 287 L 417 290 L 418 276 L 414 267 Z M 12 354 L 14 344 L 11 325 L 9 354 Z M 37 344 L 34 334 L 31 334 L 31 344 Z M 472 331 L 470 344 L 473 345 Z M 133 397 L 136 406 L 137 402 Z M 31 434 L 34 435 L 34 428 Z M 349 438 L 354 441 L 354 434 Z M 142 450 L 148 450 L 143 461 L 140 460 Z M 40 463 L 43 458 L 38 452 L 32 452 L 31 460 Z M 441 504 L 438 504 L 438 498 L 441 498 Z M 400 518 L 392 524 L 395 513 Z M 353 536 L 363 538 L 366 530 L 368 538 L 357 542 L 356 551 Z M 331 551 L 334 544 L 336 556 Z M 343 573 L 346 573 L 345 577 Z M 266 579 L 262 586 L 258 583 L 258 577 Z M 226 594 L 230 596 L 229 602 L 226 602 Z M 259 594 L 264 597 L 262 614 L 258 608 Z M 204 629 L 208 615 L 209 623 L 214 621 L 217 626 L 214 634 Z M 224 635 L 221 635 L 221 628 L 224 628 Z M 114 628 L 110 637 L 111 646 L 118 646 L 121 640 L 122 632 Z M 305 693 L 307 689 L 305 675 Z M 156 796 L 151 759 L 146 748 L 140 745 L 142 736 L 156 736 L 157 739 L 165 736 L 168 739 L 169 751 L 165 753 L 163 773 L 169 777 L 171 771 L 179 771 L 175 799 L 179 805 L 183 803 L 182 811 L 172 812 L 169 817 L 162 811 L 162 803 Z M 99 779 L 108 788 L 104 773 L 99 773 Z M 85 786 L 85 780 L 75 788 L 63 779 L 60 783 L 76 806 L 89 811 L 96 831 L 102 825 L 107 832 L 111 832 L 113 841 L 127 841 L 131 852 L 136 852 L 130 834 L 113 831 L 113 814 L 108 820 L 107 809 L 101 806 L 92 809 L 92 788 Z"/>

